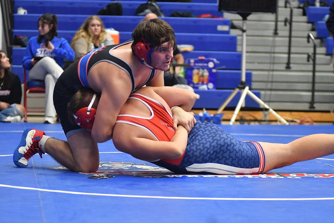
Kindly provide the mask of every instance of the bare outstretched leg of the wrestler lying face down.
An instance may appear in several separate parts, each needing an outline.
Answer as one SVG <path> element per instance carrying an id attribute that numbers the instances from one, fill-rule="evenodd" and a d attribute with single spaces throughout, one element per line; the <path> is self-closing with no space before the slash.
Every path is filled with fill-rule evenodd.
<path id="1" fill-rule="evenodd" d="M 334 134 L 309 135 L 288 144 L 259 143 L 266 159 L 263 172 L 334 153 Z"/>

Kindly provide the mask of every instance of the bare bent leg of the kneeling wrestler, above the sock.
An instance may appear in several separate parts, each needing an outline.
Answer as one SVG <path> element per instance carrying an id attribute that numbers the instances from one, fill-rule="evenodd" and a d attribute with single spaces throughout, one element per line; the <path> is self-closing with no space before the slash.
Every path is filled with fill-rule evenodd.
<path id="1" fill-rule="evenodd" d="M 96 172 L 99 168 L 98 144 L 88 131 L 71 135 L 67 142 L 50 138 L 45 142 L 44 150 L 74 172 Z"/>

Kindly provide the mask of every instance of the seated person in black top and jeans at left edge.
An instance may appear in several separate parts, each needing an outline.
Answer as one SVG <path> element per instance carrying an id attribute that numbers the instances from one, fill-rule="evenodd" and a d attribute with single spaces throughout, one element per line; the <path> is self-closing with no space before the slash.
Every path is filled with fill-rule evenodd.
<path id="1" fill-rule="evenodd" d="M 9 58 L 0 51 L 0 122 L 21 122 L 25 114 L 21 103 L 20 78 L 9 71 Z"/>

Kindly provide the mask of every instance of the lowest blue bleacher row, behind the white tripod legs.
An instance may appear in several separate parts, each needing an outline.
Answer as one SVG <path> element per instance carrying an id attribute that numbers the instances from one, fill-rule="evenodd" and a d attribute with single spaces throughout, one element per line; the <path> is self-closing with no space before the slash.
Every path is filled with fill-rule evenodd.
<path id="1" fill-rule="evenodd" d="M 206 109 L 218 109 L 227 99 L 227 97 L 232 93 L 233 90 L 201 90 L 194 89 L 196 94 L 199 94 L 200 98 L 196 100 L 193 108 L 206 108 Z M 261 98 L 260 91 L 252 91 L 256 96 Z M 229 102 L 227 107 L 235 107 L 240 99 L 240 91 L 234 96 L 234 98 Z M 260 107 L 260 105 L 255 102 L 248 95 L 245 99 L 246 107 Z"/>

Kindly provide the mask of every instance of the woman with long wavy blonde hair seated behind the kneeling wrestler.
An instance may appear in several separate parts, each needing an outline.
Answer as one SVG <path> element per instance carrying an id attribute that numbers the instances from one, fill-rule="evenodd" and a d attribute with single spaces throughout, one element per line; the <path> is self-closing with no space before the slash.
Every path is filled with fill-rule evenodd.
<path id="1" fill-rule="evenodd" d="M 78 59 L 91 50 L 112 44 L 114 44 L 114 40 L 106 32 L 101 18 L 92 15 L 74 34 L 71 47 L 74 50 L 75 59 Z"/>

